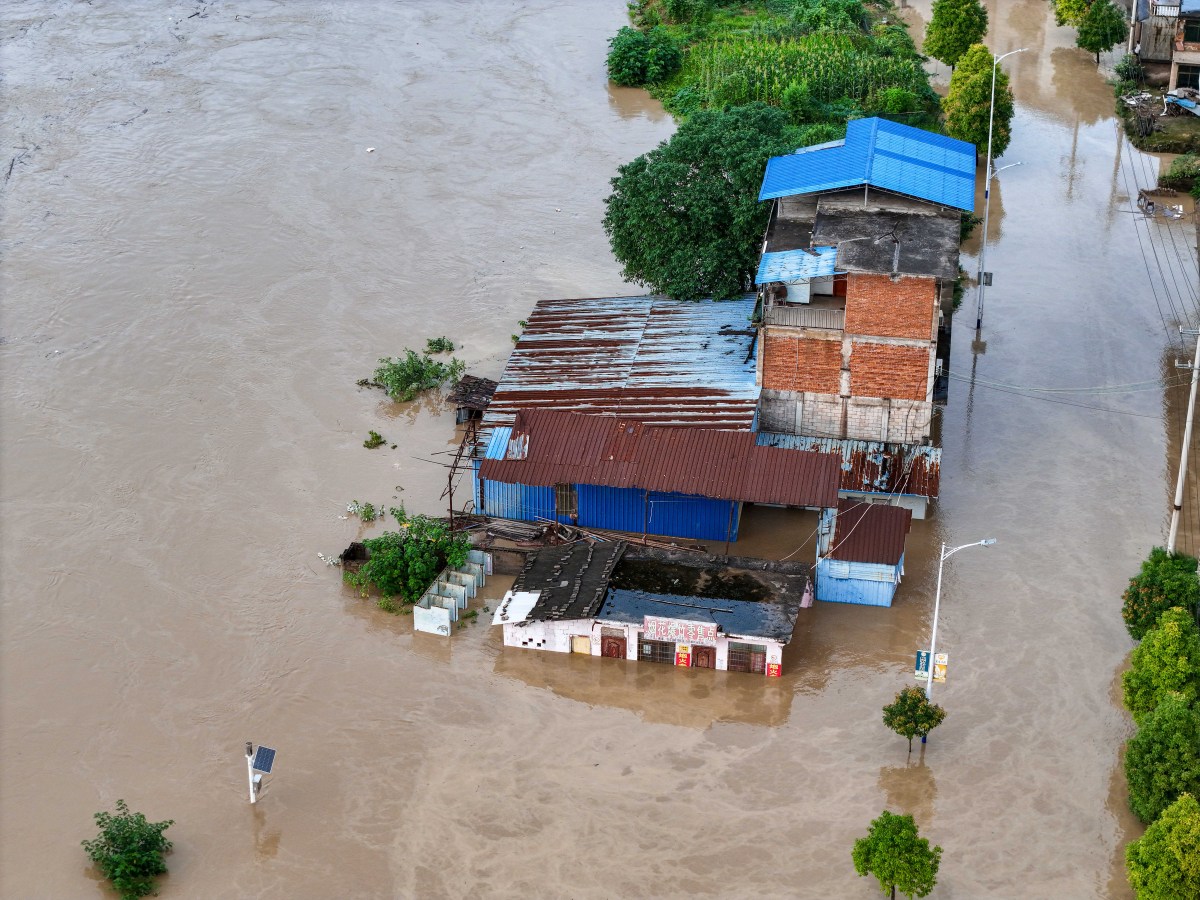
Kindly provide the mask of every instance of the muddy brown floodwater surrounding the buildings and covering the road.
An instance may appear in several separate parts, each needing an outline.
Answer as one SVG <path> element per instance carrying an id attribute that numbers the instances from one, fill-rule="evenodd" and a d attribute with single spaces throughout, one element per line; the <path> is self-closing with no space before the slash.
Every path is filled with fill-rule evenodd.
<path id="1" fill-rule="evenodd" d="M 176 822 L 164 898 L 868 898 L 884 808 L 944 847 L 938 898 L 1128 896 L 1120 593 L 1165 534 L 1193 232 L 1130 211 L 1159 160 L 1050 7 L 990 8 L 1031 48 L 1024 164 L 942 500 L 896 605 L 804 611 L 767 682 L 414 636 L 317 557 L 349 500 L 443 509 L 454 418 L 356 388 L 377 358 L 449 335 L 494 376 L 538 299 L 630 290 L 602 198 L 672 122 L 605 82 L 622 2 L 4 5 L 0 893 L 104 896 L 78 844 L 120 797 Z M 756 510 L 733 552 L 809 524 Z M 985 536 L 910 758 L 880 708 L 938 541 Z M 278 749 L 253 808 L 247 739 Z"/>

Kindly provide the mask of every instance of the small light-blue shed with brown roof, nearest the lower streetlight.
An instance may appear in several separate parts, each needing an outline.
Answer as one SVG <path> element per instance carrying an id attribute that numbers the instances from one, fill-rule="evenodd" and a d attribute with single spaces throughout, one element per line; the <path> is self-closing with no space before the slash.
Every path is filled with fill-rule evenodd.
<path id="1" fill-rule="evenodd" d="M 817 553 L 817 600 L 892 606 L 904 575 L 912 512 L 901 506 L 841 500 L 833 538 Z"/>

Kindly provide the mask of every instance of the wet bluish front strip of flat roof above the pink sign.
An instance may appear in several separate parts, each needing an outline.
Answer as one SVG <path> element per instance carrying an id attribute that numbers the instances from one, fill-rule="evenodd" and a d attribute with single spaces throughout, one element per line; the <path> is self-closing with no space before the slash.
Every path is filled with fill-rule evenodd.
<path id="1" fill-rule="evenodd" d="M 642 590 L 608 588 L 595 618 L 641 625 L 647 616 L 716 623 L 730 637 L 764 637 L 786 644 L 792 640 L 799 608 L 792 605 L 714 600 L 678 594 L 648 594 Z"/>

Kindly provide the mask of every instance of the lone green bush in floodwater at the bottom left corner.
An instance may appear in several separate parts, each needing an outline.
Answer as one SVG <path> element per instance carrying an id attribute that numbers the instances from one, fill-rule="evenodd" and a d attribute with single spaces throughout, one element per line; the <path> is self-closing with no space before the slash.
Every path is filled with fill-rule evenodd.
<path id="1" fill-rule="evenodd" d="M 113 882 L 121 900 L 137 900 L 154 893 L 154 878 L 167 871 L 163 857 L 170 841 L 163 836 L 172 820 L 149 822 L 140 812 L 130 812 L 125 800 L 116 802 L 116 812 L 92 816 L 100 834 L 83 841 L 88 858 Z"/>

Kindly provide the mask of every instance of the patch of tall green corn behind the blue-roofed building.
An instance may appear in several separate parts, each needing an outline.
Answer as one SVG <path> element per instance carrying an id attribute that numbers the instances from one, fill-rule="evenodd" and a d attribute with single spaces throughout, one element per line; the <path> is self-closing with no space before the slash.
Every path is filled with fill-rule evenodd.
<path id="1" fill-rule="evenodd" d="M 738 37 L 692 47 L 674 85 L 694 85 L 709 106 L 762 101 L 778 106 L 793 82 L 806 82 L 817 102 L 864 100 L 884 88 L 928 91 L 916 59 L 881 56 L 869 38 L 809 35 L 788 40 Z"/>

